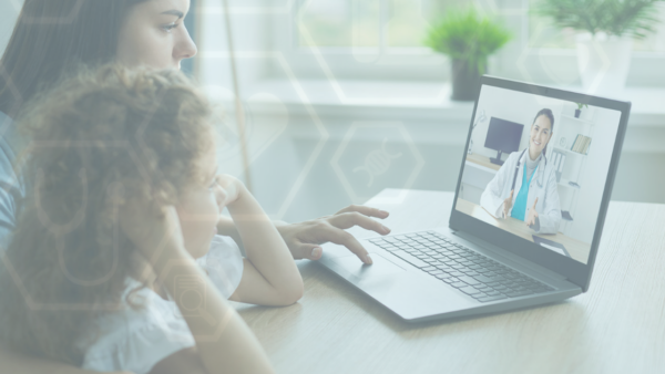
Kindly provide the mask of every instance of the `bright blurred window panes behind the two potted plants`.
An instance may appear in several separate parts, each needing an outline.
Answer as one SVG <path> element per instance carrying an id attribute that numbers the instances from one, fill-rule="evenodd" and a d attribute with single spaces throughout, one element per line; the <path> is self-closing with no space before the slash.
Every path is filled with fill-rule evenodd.
<path id="1" fill-rule="evenodd" d="M 449 62 L 422 45 L 428 27 L 453 7 L 501 20 L 513 40 L 490 59 L 490 74 L 579 84 L 575 32 L 530 12 L 538 0 L 295 0 L 272 17 L 274 48 L 304 79 L 447 80 Z M 659 13 L 665 21 L 665 4 Z M 665 25 L 634 44 L 628 85 L 665 85 Z"/>

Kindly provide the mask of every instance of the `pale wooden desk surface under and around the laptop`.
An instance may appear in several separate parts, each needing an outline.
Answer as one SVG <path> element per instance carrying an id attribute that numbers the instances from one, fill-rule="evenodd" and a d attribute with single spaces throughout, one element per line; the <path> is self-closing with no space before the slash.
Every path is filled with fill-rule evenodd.
<path id="1" fill-rule="evenodd" d="M 368 204 L 391 211 L 395 232 L 422 229 L 415 218 L 447 225 L 453 194 L 403 195 Z M 410 205 L 418 195 L 430 204 Z M 410 325 L 309 261 L 299 303 L 237 305 L 284 374 L 662 373 L 664 227 L 665 205 L 613 201 L 589 292 L 538 309 Z"/>

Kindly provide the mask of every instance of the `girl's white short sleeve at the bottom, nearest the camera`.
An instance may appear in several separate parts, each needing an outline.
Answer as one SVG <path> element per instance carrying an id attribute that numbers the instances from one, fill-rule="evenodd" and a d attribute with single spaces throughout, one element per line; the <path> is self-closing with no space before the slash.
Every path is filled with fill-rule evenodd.
<path id="1" fill-rule="evenodd" d="M 149 373 L 165 357 L 196 345 L 174 302 L 135 280 L 117 310 L 100 316 L 90 334 L 79 340 L 82 367 L 99 372 Z"/>

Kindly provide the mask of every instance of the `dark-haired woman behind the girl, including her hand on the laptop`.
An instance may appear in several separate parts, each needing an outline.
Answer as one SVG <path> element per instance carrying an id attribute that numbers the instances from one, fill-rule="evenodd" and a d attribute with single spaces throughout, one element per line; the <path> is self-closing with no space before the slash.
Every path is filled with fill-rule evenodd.
<path id="1" fill-rule="evenodd" d="M 183 24 L 190 0 L 25 0 L 7 50 L 0 60 L 0 240 L 16 226 L 18 204 L 24 188 L 14 174 L 19 143 L 12 118 L 35 94 L 53 86 L 80 64 L 120 61 L 130 65 L 178 67 L 196 54 Z M 346 246 L 364 262 L 367 250 L 345 231 L 352 226 L 390 230 L 370 217 L 387 211 L 350 206 L 335 215 L 299 224 L 275 222 L 295 259 L 317 260 L 324 242 Z M 219 233 L 239 235 L 229 219 L 218 222 Z M 12 373 L 54 372 L 55 364 L 0 350 L 3 367 Z M 61 373 L 78 372 L 73 367 Z"/>

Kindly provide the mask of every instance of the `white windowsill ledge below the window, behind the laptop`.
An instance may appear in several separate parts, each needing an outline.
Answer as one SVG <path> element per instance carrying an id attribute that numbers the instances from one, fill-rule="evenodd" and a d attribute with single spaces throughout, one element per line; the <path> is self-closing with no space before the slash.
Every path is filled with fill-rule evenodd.
<path id="1" fill-rule="evenodd" d="M 468 121 L 473 111 L 473 102 L 450 100 L 448 82 L 265 80 L 249 89 L 244 92 L 268 93 L 296 113 L 306 111 L 308 103 L 319 115 L 354 116 L 360 112 L 381 111 L 385 115 Z M 582 91 L 581 86 L 561 89 Z M 617 98 L 633 104 L 631 127 L 665 127 L 665 87 L 627 87 Z M 262 103 L 260 100 L 253 102 Z M 265 104 L 269 112 L 270 104 Z"/>

